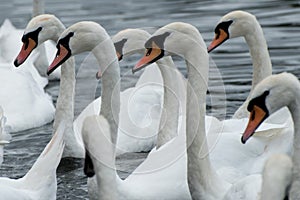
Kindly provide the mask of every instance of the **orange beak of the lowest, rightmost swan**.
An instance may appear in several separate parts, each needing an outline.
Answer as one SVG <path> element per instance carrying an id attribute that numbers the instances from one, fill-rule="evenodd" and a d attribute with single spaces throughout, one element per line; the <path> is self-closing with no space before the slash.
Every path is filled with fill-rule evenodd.
<path id="1" fill-rule="evenodd" d="M 242 136 L 242 143 L 246 141 L 254 134 L 259 125 L 266 119 L 267 113 L 258 106 L 253 106 L 253 110 L 250 113 L 249 121 L 246 130 Z"/>

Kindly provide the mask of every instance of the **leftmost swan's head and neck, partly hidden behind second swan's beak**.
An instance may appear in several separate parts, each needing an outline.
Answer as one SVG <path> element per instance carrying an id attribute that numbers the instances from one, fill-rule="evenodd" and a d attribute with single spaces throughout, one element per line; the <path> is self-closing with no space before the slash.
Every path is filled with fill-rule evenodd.
<path id="1" fill-rule="evenodd" d="M 39 31 L 37 31 L 39 30 Z M 29 58 L 31 52 L 48 40 L 57 41 L 59 35 L 65 30 L 65 26 L 54 15 L 42 14 L 33 17 L 27 24 L 23 34 L 24 45 L 34 43 L 32 48 L 22 48 L 16 58 L 18 64 L 22 64 Z M 28 44 L 29 45 L 29 44 Z M 74 119 L 74 95 L 75 95 L 75 60 L 70 58 L 61 68 L 61 79 L 59 94 L 56 103 L 54 116 L 54 131 L 62 121 L 65 121 L 65 148 L 63 157 L 84 157 L 84 147 L 81 140 L 78 140 L 73 130 Z M 25 66 L 26 67 L 26 66 Z"/>

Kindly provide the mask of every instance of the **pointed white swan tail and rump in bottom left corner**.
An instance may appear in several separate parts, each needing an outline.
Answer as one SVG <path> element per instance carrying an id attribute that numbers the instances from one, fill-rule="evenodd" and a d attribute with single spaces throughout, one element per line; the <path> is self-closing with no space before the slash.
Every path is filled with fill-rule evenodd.
<path id="1" fill-rule="evenodd" d="M 0 177 L 2 199 L 56 199 L 56 168 L 64 148 L 61 124 L 31 169 L 19 179 Z"/>

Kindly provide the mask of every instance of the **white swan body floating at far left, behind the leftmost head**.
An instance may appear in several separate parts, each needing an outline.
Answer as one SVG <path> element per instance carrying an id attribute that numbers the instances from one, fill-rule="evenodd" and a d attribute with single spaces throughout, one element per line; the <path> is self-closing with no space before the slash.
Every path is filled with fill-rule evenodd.
<path id="1" fill-rule="evenodd" d="M 44 125 L 54 116 L 52 99 L 43 89 L 48 81 L 38 74 L 32 60 L 23 69 L 11 66 L 14 53 L 21 46 L 16 37 L 21 38 L 21 34 L 9 20 L 0 29 L 1 81 L 6 83 L 1 88 L 0 104 L 12 132 Z"/>

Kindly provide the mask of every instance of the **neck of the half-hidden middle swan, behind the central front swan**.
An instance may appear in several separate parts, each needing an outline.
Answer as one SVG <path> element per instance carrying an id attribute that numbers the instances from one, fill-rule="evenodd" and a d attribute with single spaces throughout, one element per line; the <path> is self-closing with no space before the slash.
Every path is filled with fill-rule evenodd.
<path id="1" fill-rule="evenodd" d="M 164 110 L 161 114 L 156 144 L 158 149 L 178 135 L 179 109 L 181 108 L 180 104 L 184 103 L 182 100 L 185 97 L 185 87 L 183 77 L 170 56 L 164 57 L 156 63 L 161 71 L 164 84 Z"/>

